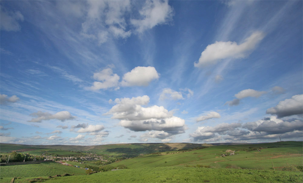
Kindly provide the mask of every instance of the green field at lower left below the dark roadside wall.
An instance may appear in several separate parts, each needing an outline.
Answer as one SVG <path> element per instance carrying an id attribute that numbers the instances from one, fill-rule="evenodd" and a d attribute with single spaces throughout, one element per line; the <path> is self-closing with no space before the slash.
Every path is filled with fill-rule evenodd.
<path id="1" fill-rule="evenodd" d="M 1 178 L 42 177 L 62 174 L 85 175 L 85 169 L 62 165 L 56 162 L 43 162 L 30 165 L 9 165 L 0 167 Z M 2 181 L 1 181 L 2 182 Z"/>

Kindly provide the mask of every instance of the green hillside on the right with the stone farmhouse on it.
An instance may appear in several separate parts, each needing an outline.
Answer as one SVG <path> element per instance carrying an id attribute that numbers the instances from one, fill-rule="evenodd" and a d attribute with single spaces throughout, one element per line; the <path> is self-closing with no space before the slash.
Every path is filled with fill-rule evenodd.
<path id="1" fill-rule="evenodd" d="M 244 151 L 249 147 L 264 148 L 260 151 Z M 277 146 L 277 147 L 276 147 Z M 280 147 L 278 147 L 280 146 Z M 269 147 L 269 148 L 268 148 Z M 235 155 L 221 157 L 227 149 L 235 151 Z M 302 142 L 278 142 L 258 145 L 220 145 L 189 152 L 171 151 L 169 154 L 151 154 L 137 158 L 125 159 L 110 164 L 113 167 L 126 165 L 128 168 L 147 168 L 161 166 L 211 166 L 216 168 L 238 167 L 282 169 L 288 166 L 302 166 Z"/>

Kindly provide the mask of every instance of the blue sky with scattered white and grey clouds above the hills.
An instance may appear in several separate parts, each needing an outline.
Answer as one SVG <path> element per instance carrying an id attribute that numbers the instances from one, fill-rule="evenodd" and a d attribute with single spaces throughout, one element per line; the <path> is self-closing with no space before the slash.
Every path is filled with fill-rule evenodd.
<path id="1" fill-rule="evenodd" d="M 0 140 L 303 139 L 302 1 L 1 1 Z"/>

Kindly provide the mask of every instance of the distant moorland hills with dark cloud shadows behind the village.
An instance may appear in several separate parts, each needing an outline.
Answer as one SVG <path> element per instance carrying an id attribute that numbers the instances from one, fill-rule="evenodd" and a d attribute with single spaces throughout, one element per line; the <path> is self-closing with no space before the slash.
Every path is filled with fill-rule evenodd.
<path id="1" fill-rule="evenodd" d="M 18 151 L 31 154 L 42 154 L 48 151 L 58 155 L 72 155 L 76 152 L 87 152 L 99 155 L 122 155 L 138 156 L 153 152 L 165 152 L 178 149 L 192 149 L 201 146 L 211 146 L 210 144 L 192 143 L 131 143 L 131 144 L 107 144 L 107 145 L 19 145 L 19 144 L 0 144 L 1 153 Z M 56 149 L 51 152 L 51 149 Z"/>

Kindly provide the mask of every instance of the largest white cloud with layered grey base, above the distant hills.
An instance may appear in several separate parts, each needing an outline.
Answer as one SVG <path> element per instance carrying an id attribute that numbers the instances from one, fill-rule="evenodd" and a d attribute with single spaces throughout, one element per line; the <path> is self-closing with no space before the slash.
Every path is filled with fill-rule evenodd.
<path id="1" fill-rule="evenodd" d="M 120 125 L 133 131 L 164 131 L 170 135 L 184 133 L 185 120 L 173 116 L 163 106 L 142 107 L 149 103 L 148 96 L 116 99 L 115 106 L 105 114 L 120 119 Z"/>

